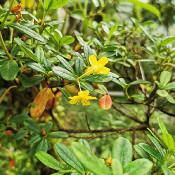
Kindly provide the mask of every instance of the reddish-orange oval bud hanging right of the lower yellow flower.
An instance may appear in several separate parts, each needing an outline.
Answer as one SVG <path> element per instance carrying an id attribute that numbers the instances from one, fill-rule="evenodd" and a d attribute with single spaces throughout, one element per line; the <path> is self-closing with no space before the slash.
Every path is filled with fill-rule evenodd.
<path id="1" fill-rule="evenodd" d="M 100 100 L 99 100 L 99 106 L 103 110 L 110 109 L 111 106 L 112 106 L 112 99 L 111 99 L 111 97 L 108 94 L 106 94 L 103 97 L 101 97 Z"/>

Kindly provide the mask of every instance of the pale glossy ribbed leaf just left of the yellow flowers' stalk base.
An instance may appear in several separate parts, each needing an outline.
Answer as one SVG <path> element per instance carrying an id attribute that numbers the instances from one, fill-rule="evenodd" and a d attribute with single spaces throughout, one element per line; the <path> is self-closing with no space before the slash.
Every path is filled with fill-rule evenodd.
<path id="1" fill-rule="evenodd" d="M 54 66 L 52 70 L 57 76 L 63 79 L 70 80 L 70 81 L 76 81 L 75 76 L 71 72 L 69 72 L 68 70 L 62 67 Z"/>

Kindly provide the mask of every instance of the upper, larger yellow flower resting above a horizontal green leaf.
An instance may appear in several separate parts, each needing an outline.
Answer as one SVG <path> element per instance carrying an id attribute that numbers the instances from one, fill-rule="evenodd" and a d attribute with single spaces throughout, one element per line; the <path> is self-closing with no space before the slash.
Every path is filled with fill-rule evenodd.
<path id="1" fill-rule="evenodd" d="M 96 59 L 95 55 L 91 55 L 89 57 L 89 61 L 91 64 L 91 67 L 88 67 L 85 70 L 85 74 L 86 75 L 96 75 L 96 74 L 109 74 L 110 69 L 108 69 L 107 67 L 104 67 L 107 63 L 108 63 L 108 58 L 107 57 L 102 57 L 100 58 L 98 61 Z"/>

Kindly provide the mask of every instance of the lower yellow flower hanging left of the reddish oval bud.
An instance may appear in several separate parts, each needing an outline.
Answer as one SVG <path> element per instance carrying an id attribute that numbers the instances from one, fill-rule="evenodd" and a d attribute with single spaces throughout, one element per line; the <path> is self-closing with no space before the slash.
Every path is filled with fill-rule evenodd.
<path id="1" fill-rule="evenodd" d="M 70 104 L 78 104 L 80 101 L 82 102 L 83 106 L 90 105 L 89 100 L 96 100 L 96 97 L 88 96 L 89 91 L 80 91 L 78 92 L 78 96 L 69 97 L 71 100 L 69 101 Z"/>

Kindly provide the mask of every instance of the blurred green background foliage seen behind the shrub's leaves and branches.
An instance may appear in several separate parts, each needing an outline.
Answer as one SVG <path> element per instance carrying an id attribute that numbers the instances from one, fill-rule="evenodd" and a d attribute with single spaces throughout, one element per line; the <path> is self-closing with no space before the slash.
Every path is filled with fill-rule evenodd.
<path id="1" fill-rule="evenodd" d="M 144 1 L 145 2 L 145 1 Z M 134 69 L 134 57 L 137 55 L 138 58 L 144 58 L 145 60 L 152 59 L 153 56 L 146 52 L 142 52 L 142 47 L 149 45 L 151 42 L 144 32 L 139 27 L 139 23 L 147 28 L 147 31 L 151 33 L 151 36 L 155 40 L 159 40 L 161 37 L 168 35 L 174 35 L 174 20 L 175 20 L 175 1 L 174 0 L 149 0 L 146 1 L 160 11 L 161 17 L 158 18 L 155 14 L 150 11 L 143 9 L 139 6 L 135 6 L 129 2 L 123 2 L 120 0 L 70 0 L 64 8 L 59 8 L 50 11 L 45 19 L 47 21 L 59 20 L 60 25 L 54 26 L 50 33 L 54 33 L 56 30 L 60 30 L 64 35 L 71 35 L 76 40 L 72 45 L 58 46 L 54 39 L 50 39 L 50 46 L 57 47 L 57 49 L 64 53 L 69 54 L 72 57 L 76 52 L 83 52 L 81 45 L 85 42 L 91 46 L 92 50 L 97 53 L 98 57 L 101 58 L 103 55 L 108 57 L 111 62 L 108 67 L 111 70 L 116 71 L 118 75 L 122 76 L 126 82 L 134 80 L 135 69 Z M 43 9 L 41 3 L 38 0 L 21 0 L 15 1 L 16 4 L 22 3 L 25 11 L 33 14 L 37 19 L 43 18 Z M 8 0 L 1 0 L 0 5 L 4 8 L 9 6 Z M 32 18 L 27 15 L 23 15 L 22 23 L 31 21 L 35 23 Z M 37 23 L 36 27 L 37 27 Z M 35 26 L 34 26 L 35 27 Z M 110 35 L 110 31 L 113 30 L 114 34 Z M 44 31 L 44 35 L 46 35 Z M 3 37 L 9 38 L 9 31 L 3 30 Z M 21 35 L 15 32 L 14 35 Z M 54 33 L 56 38 L 57 33 Z M 25 35 L 21 36 L 25 40 Z M 8 43 L 7 43 L 8 44 Z M 29 43 L 30 44 L 30 41 Z M 170 48 L 172 45 L 170 46 Z M 174 53 L 173 53 L 174 54 Z M 46 53 L 47 55 L 47 53 Z M 49 57 L 49 54 L 47 55 Z M 172 56 L 172 58 L 174 55 Z M 54 62 L 54 58 L 48 58 L 50 62 Z M 73 58 L 74 59 L 74 58 Z M 73 60 L 72 59 L 72 60 Z M 174 61 L 174 60 L 173 60 Z M 114 64 L 113 64 L 114 63 Z M 116 64 L 115 64 L 116 63 Z M 154 61 L 148 61 L 143 64 L 144 74 L 146 80 L 153 81 L 157 79 L 158 71 L 162 71 L 162 67 L 159 66 L 161 60 L 157 60 L 157 64 Z M 174 68 L 168 68 L 173 71 Z M 139 75 L 140 76 L 140 75 Z M 0 86 L 3 86 L 4 81 L 0 80 Z M 152 85 L 144 85 L 144 89 L 147 92 L 151 91 Z M 124 96 L 121 86 L 111 82 L 107 84 L 109 94 L 113 94 L 115 99 L 118 101 L 126 101 L 127 97 Z M 66 90 L 71 94 L 75 95 L 78 92 L 76 85 L 67 85 Z M 14 90 L 15 91 L 15 90 Z M 36 93 L 36 92 L 33 92 Z M 139 93 L 138 89 L 130 88 L 129 94 Z M 8 125 L 10 128 L 15 124 L 4 122 L 4 116 L 16 115 L 22 111 L 27 111 L 29 102 L 32 102 L 30 94 L 26 90 L 26 101 L 21 98 L 20 92 L 13 97 L 6 96 L 4 99 L 4 105 L 0 106 L 0 174 L 2 175 L 39 175 L 39 174 L 51 174 L 52 171 L 42 165 L 35 157 L 29 154 L 30 147 L 28 140 L 25 138 L 23 141 L 15 140 L 13 133 L 8 132 Z M 97 95 L 98 99 L 101 95 Z M 157 99 L 159 103 L 162 99 Z M 175 111 L 174 104 L 167 104 L 164 102 L 166 109 L 170 109 L 172 112 Z M 4 112 L 5 108 L 8 111 Z M 127 105 L 124 110 L 129 114 L 139 116 L 139 119 L 145 120 L 146 107 L 144 105 Z M 135 122 L 126 118 L 121 113 L 117 112 L 114 108 L 104 111 L 99 108 L 98 102 L 91 102 L 90 106 L 84 107 L 82 105 L 70 105 L 63 96 L 60 96 L 57 100 L 56 108 L 54 109 L 54 115 L 56 119 L 60 121 L 60 124 L 67 129 L 88 129 L 86 118 L 90 123 L 91 129 L 102 129 L 102 128 L 124 128 L 132 127 Z M 150 118 L 150 126 L 153 127 L 158 133 L 156 118 L 161 117 L 168 126 L 167 129 L 170 134 L 175 135 L 174 124 L 175 120 L 159 111 L 154 112 Z M 40 122 L 47 123 L 52 121 L 49 115 L 42 116 Z M 54 126 L 53 130 L 57 130 Z M 7 130 L 7 132 L 1 132 Z M 96 138 L 89 141 L 92 150 L 96 155 L 102 158 L 110 157 L 112 142 L 119 136 L 128 138 L 132 142 L 133 134 L 132 131 L 114 134 L 109 137 Z M 53 147 L 56 142 L 63 142 L 66 145 L 70 145 L 72 141 L 77 141 L 78 137 L 86 137 L 88 134 L 77 135 L 77 138 L 70 137 L 67 139 L 52 139 L 51 146 Z M 145 131 L 138 131 L 136 135 L 135 143 L 149 142 L 146 137 Z M 135 144 L 134 143 L 134 144 Z M 54 155 L 53 150 L 49 151 L 50 154 Z M 137 155 L 135 155 L 137 156 Z M 12 162 L 15 160 L 15 163 Z M 13 166 L 14 164 L 14 166 Z"/>

